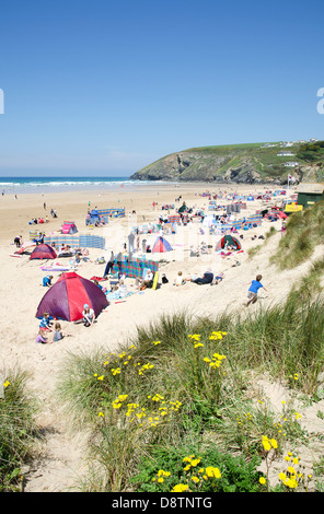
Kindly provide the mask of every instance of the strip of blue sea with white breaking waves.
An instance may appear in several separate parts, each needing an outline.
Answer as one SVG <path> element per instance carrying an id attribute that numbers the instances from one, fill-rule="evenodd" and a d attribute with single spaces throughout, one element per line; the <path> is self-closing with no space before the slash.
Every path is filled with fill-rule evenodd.
<path id="1" fill-rule="evenodd" d="M 161 182 L 159 182 L 161 184 Z M 109 190 L 116 187 L 134 187 L 138 185 L 154 184 L 152 180 L 132 180 L 129 177 L 0 177 L 0 191 L 2 195 L 16 195 L 26 192 L 55 192 L 101 189 Z"/>

